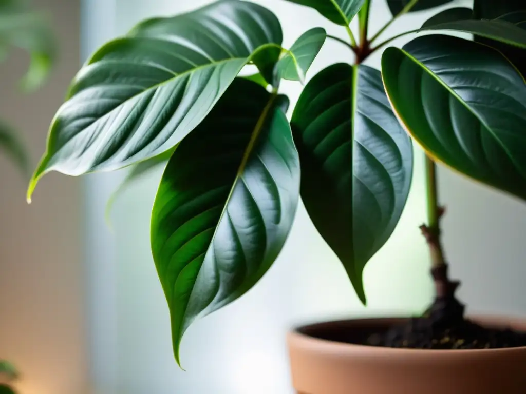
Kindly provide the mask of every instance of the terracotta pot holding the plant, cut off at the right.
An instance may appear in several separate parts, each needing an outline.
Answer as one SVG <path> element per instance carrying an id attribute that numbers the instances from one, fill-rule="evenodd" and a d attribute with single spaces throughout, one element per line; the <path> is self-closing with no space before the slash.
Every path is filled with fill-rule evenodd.
<path id="1" fill-rule="evenodd" d="M 487 327 L 526 331 L 526 320 L 473 320 Z M 416 350 L 338 341 L 349 333 L 380 332 L 403 321 L 345 320 L 293 331 L 288 346 L 295 389 L 299 394 L 526 393 L 526 347 Z"/>

